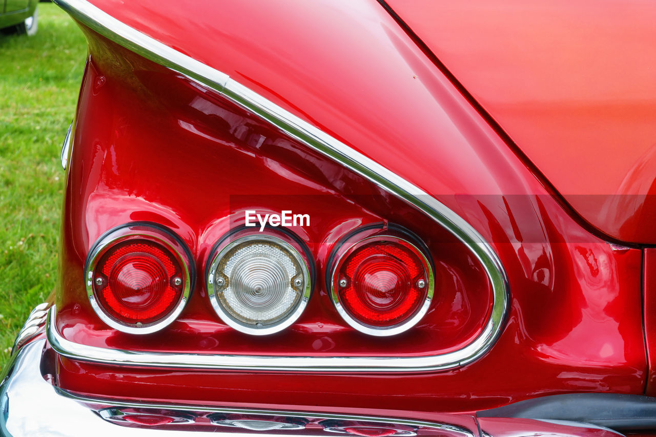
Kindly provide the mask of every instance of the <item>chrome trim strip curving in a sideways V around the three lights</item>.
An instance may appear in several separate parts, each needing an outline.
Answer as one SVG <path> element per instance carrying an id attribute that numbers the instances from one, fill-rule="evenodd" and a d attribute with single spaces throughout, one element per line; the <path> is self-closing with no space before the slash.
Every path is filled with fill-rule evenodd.
<path id="1" fill-rule="evenodd" d="M 317 127 L 284 110 L 190 56 L 123 24 L 86 0 L 54 0 L 75 20 L 108 37 L 119 45 L 163 66 L 182 73 L 205 87 L 215 90 L 239 106 L 268 121 L 286 135 L 337 161 L 344 167 L 377 184 L 390 194 L 419 209 L 458 238 L 481 262 L 493 290 L 493 307 L 482 333 L 470 344 L 449 354 L 428 357 L 272 357 L 272 356 L 199 356 L 193 354 L 136 354 L 132 351 L 93 348 L 66 341 L 56 330 L 49 336 L 58 341 L 58 352 L 84 361 L 131 365 L 206 367 L 230 369 L 279 369 L 305 371 L 428 371 L 457 367 L 483 356 L 501 334 L 510 295 L 501 260 L 485 239 L 459 215 L 440 201 L 392 173 L 379 163 L 360 154 Z M 54 346 L 54 344 L 53 344 Z"/>

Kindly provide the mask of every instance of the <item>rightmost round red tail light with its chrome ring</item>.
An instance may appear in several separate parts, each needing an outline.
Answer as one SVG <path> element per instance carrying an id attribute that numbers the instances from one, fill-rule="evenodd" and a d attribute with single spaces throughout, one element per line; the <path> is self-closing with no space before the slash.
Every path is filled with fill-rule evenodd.
<path id="1" fill-rule="evenodd" d="M 369 335 L 394 335 L 428 311 L 434 275 L 428 257 L 397 236 L 377 235 L 338 249 L 331 298 L 352 327 Z"/>

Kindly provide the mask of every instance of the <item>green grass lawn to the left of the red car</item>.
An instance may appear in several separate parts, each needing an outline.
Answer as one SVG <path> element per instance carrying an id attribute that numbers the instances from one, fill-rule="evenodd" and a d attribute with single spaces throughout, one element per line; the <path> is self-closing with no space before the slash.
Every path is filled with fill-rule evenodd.
<path id="1" fill-rule="evenodd" d="M 59 156 L 86 54 L 82 32 L 51 3 L 39 4 L 36 35 L 0 34 L 0 367 L 30 310 L 54 288 Z"/>

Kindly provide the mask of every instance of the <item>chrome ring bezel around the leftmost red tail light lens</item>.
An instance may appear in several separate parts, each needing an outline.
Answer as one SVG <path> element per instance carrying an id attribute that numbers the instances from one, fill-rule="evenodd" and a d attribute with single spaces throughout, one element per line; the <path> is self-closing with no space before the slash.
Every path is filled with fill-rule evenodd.
<path id="1" fill-rule="evenodd" d="M 121 323 L 119 320 L 115 320 L 110 314 L 102 308 L 102 305 L 98 303 L 95 293 L 94 293 L 94 272 L 98 261 L 101 257 L 115 244 L 122 243 L 123 241 L 128 241 L 130 239 L 146 239 L 154 241 L 160 245 L 163 245 L 165 249 L 171 251 L 171 253 L 176 257 L 180 266 L 182 267 L 182 274 L 184 278 L 180 280 L 184 281 L 184 288 L 182 289 L 182 295 L 180 296 L 180 301 L 178 304 L 165 316 L 157 320 L 156 322 L 142 324 L 137 322 L 134 325 L 127 325 Z M 87 262 L 85 265 L 85 288 L 87 289 L 87 297 L 89 297 L 89 302 L 91 307 L 100 320 L 104 323 L 107 323 L 110 327 L 117 329 L 118 331 L 129 333 L 129 334 L 150 334 L 156 331 L 159 331 L 167 325 L 173 323 L 176 318 L 180 315 L 184 306 L 186 306 L 187 301 L 189 300 L 191 291 L 193 289 L 193 280 L 194 280 L 194 264 L 191 262 L 191 252 L 186 247 L 182 239 L 180 239 L 176 234 L 171 230 L 160 226 L 159 224 L 150 223 L 150 222 L 133 222 L 117 226 L 100 236 L 96 243 L 91 247 L 89 255 L 87 255 Z M 96 282 L 97 283 L 97 282 Z M 102 285 L 99 284 L 99 285 Z"/>

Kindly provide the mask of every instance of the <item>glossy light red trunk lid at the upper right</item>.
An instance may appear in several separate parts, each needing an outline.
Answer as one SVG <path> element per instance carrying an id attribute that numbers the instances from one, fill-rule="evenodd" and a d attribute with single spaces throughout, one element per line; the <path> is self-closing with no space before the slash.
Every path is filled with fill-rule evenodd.
<path id="1" fill-rule="evenodd" d="M 656 4 L 389 0 L 598 230 L 656 243 Z"/>

